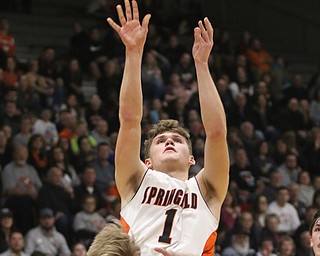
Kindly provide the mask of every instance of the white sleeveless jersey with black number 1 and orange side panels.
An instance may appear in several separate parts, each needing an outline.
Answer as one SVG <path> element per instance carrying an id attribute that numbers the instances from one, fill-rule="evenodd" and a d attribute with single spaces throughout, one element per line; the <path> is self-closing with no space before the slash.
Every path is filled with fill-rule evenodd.
<path id="1" fill-rule="evenodd" d="M 142 256 L 161 255 L 155 247 L 175 256 L 213 255 L 218 220 L 195 177 L 181 181 L 147 170 L 138 191 L 122 208 L 121 221 Z"/>

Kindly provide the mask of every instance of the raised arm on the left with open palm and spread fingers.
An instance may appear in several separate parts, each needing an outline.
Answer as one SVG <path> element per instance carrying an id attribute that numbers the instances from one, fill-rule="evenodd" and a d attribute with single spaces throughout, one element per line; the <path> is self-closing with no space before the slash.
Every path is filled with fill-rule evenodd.
<path id="1" fill-rule="evenodd" d="M 120 26 L 108 18 L 110 26 L 118 33 L 126 47 L 124 74 L 120 89 L 120 130 L 115 149 L 116 184 L 122 205 L 125 205 L 136 191 L 146 167 L 140 160 L 142 119 L 141 63 L 147 38 L 150 15 L 139 21 L 138 4 L 125 0 L 125 14 L 117 6 Z"/>

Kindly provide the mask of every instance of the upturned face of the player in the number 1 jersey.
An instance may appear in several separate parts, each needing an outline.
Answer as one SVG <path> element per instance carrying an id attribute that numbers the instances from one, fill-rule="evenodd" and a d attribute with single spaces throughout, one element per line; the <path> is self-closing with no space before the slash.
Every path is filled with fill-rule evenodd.
<path id="1" fill-rule="evenodd" d="M 184 163 L 186 166 L 194 164 L 186 139 L 173 132 L 164 132 L 154 138 L 150 147 L 150 159 L 155 169 L 155 166 L 164 162 Z"/>

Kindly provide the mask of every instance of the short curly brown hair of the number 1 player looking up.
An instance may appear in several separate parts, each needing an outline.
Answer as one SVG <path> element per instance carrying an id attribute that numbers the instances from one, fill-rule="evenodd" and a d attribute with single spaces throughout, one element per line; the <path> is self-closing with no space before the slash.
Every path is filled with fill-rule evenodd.
<path id="1" fill-rule="evenodd" d="M 189 146 L 190 154 L 192 153 L 192 144 L 190 139 L 190 134 L 184 129 L 177 120 L 166 119 L 160 120 L 158 124 L 155 124 L 153 128 L 148 132 L 147 139 L 144 141 L 144 158 L 150 157 L 150 147 L 153 139 L 161 133 L 164 132 L 174 132 L 183 136 Z"/>

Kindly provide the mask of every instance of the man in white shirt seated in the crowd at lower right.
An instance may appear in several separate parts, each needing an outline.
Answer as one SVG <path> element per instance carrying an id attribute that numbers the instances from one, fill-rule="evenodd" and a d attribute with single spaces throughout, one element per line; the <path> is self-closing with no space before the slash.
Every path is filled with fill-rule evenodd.
<path id="1" fill-rule="evenodd" d="M 300 219 L 296 208 L 289 203 L 290 194 L 287 187 L 277 189 L 277 198 L 268 207 L 268 213 L 274 213 L 279 217 L 279 231 L 292 235 L 300 225 Z"/>

